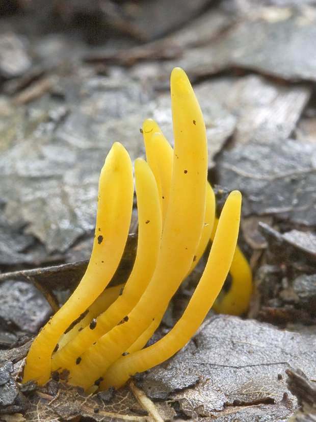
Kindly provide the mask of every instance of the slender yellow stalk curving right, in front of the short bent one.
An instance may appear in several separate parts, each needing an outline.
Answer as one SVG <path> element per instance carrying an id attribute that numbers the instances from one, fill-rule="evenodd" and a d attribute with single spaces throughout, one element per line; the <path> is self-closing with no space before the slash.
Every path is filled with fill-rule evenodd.
<path id="1" fill-rule="evenodd" d="M 102 389 L 118 388 L 130 375 L 165 361 L 195 334 L 228 274 L 238 238 L 240 211 L 241 194 L 233 191 L 224 205 L 201 280 L 182 317 L 161 340 L 146 349 L 120 357 L 104 374 Z"/>

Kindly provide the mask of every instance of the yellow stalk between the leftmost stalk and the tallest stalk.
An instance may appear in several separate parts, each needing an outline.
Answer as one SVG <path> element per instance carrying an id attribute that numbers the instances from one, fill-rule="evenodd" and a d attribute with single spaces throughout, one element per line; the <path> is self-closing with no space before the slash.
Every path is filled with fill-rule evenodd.
<path id="1" fill-rule="evenodd" d="M 68 368 L 96 340 L 106 334 L 134 308 L 151 280 L 156 266 L 162 235 L 162 217 L 158 190 L 148 164 L 135 161 L 135 183 L 138 201 L 138 245 L 136 260 L 122 294 L 96 318 L 93 329 L 85 327 L 72 341 L 52 357 L 51 369 Z M 103 309 L 104 310 L 104 309 Z"/>

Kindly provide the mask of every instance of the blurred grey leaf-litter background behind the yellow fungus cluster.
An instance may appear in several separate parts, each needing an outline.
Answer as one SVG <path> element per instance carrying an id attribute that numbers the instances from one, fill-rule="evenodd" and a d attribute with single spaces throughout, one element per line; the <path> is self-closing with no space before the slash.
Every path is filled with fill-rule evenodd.
<path id="1" fill-rule="evenodd" d="M 219 207 L 243 193 L 250 316 L 313 321 L 315 47 L 314 0 L 1 2 L 1 271 L 89 258 L 104 158 L 115 141 L 144 157 L 148 117 L 173 142 L 169 78 L 180 66 L 204 114 Z M 0 285 L 0 313 L 7 321 L 36 297 L 40 317 L 14 319 L 36 332 L 51 309 L 16 286 Z"/>

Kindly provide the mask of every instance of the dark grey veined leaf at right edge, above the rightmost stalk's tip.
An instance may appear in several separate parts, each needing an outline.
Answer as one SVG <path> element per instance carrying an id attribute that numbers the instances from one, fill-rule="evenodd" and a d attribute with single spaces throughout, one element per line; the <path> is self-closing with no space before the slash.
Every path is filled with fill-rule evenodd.
<path id="1" fill-rule="evenodd" d="M 220 183 L 243 193 L 244 214 L 316 222 L 316 146 L 294 140 L 236 146 L 220 160 Z"/>

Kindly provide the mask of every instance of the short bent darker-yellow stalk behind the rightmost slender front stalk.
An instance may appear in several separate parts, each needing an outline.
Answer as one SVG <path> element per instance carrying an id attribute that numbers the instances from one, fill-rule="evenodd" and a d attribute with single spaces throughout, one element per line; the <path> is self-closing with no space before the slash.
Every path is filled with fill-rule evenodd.
<path id="1" fill-rule="evenodd" d="M 215 219 L 215 228 L 218 219 Z M 211 239 L 213 240 L 214 232 Z M 229 274 L 231 275 L 231 286 L 226 294 L 219 295 L 213 309 L 218 313 L 229 315 L 241 315 L 249 308 L 250 296 L 252 293 L 252 272 L 248 261 L 242 254 L 239 246 L 232 259 Z"/>

